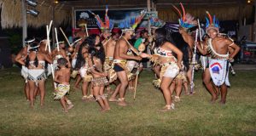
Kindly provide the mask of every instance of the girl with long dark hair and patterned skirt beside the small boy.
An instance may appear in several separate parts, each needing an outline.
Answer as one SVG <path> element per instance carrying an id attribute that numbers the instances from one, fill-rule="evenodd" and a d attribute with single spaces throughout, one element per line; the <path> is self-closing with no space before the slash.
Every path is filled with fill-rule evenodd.
<path id="1" fill-rule="evenodd" d="M 110 110 L 110 106 L 108 105 L 108 99 L 104 94 L 104 88 L 106 85 L 108 85 L 108 74 L 103 71 L 105 56 L 104 52 L 101 51 L 102 49 L 96 49 L 92 47 L 89 49 L 89 65 L 93 76 L 92 88 L 94 97 L 102 107 L 102 111 L 108 111 Z"/>

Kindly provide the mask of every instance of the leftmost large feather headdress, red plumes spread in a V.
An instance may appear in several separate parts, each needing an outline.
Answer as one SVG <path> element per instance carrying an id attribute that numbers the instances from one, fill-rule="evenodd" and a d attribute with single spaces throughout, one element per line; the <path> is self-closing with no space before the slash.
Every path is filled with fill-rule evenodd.
<path id="1" fill-rule="evenodd" d="M 105 13 L 105 23 L 102 21 L 98 14 L 94 14 L 89 10 L 90 14 L 95 15 L 96 24 L 101 29 L 101 31 L 112 31 L 113 29 L 113 20 L 110 20 L 108 17 L 108 6 L 106 6 L 106 13 Z"/>

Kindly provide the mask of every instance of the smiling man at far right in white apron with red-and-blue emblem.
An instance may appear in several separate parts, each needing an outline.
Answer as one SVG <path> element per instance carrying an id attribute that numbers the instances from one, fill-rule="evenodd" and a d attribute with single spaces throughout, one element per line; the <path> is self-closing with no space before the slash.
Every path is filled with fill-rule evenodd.
<path id="1" fill-rule="evenodd" d="M 209 39 L 207 40 L 207 47 L 201 48 L 201 45 L 196 44 L 201 54 L 211 54 L 209 59 L 208 69 L 205 71 L 205 77 L 203 82 L 205 83 L 207 90 L 212 94 L 211 102 L 214 103 L 217 99 L 217 94 L 212 87 L 212 81 L 218 87 L 220 87 L 221 100 L 220 104 L 225 104 L 227 96 L 227 86 L 230 86 L 229 82 L 229 61 L 232 60 L 239 52 L 240 48 L 236 43 L 230 39 L 224 37 L 218 37 L 219 25 L 215 15 L 213 16 L 207 12 L 207 34 Z M 229 48 L 234 48 L 233 53 L 229 54 Z"/>

